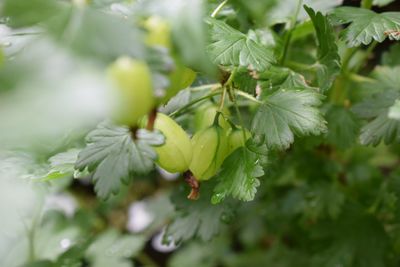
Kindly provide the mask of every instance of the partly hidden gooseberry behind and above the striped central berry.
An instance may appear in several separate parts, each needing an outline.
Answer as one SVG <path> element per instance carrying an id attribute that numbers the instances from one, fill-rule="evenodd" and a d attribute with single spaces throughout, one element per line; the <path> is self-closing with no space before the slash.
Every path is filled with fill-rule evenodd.
<path id="1" fill-rule="evenodd" d="M 210 127 L 213 122 L 215 115 L 218 112 L 218 107 L 211 102 L 207 102 L 203 105 L 201 105 L 197 110 L 194 115 L 194 127 L 197 131 L 207 129 Z M 224 116 L 229 116 L 229 110 L 224 108 L 222 110 L 222 113 Z M 230 128 L 229 123 L 224 119 L 223 116 L 219 116 L 218 118 L 218 123 L 219 125 L 224 128 L 225 130 L 228 130 Z"/>

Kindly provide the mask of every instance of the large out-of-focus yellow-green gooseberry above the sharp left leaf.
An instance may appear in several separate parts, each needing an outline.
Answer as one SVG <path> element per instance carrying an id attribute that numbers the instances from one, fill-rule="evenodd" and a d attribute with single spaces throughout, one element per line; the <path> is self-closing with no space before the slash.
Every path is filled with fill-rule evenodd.
<path id="1" fill-rule="evenodd" d="M 117 59 L 108 68 L 112 81 L 112 114 L 117 124 L 134 127 L 155 105 L 150 69 L 146 62 L 129 57 Z"/>

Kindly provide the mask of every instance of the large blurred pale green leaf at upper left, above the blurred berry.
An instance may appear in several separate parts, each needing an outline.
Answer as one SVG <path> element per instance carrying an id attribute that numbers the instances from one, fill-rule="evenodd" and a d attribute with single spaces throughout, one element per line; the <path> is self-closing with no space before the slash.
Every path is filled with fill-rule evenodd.
<path id="1" fill-rule="evenodd" d="M 121 55 L 145 55 L 138 28 L 95 9 L 71 7 L 47 23 L 46 29 L 61 45 L 96 60 L 109 62 Z"/>

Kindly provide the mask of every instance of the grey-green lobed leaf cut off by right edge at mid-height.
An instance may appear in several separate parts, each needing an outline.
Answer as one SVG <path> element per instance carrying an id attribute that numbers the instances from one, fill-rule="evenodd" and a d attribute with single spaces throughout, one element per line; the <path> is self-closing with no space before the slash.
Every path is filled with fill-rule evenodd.
<path id="1" fill-rule="evenodd" d="M 376 146 L 382 140 L 386 144 L 400 141 L 400 121 L 388 116 L 395 100 L 400 97 L 399 73 L 400 67 L 377 67 L 373 75 L 382 92 L 353 107 L 359 117 L 368 120 L 361 129 L 361 144 Z"/>

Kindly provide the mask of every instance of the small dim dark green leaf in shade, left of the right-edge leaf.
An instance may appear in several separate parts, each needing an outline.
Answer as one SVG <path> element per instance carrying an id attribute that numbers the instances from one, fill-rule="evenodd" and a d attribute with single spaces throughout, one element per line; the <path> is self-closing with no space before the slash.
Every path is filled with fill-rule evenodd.
<path id="1" fill-rule="evenodd" d="M 325 115 L 328 122 L 326 138 L 338 148 L 351 147 L 358 137 L 359 123 L 353 113 L 342 106 L 332 106 Z"/>

